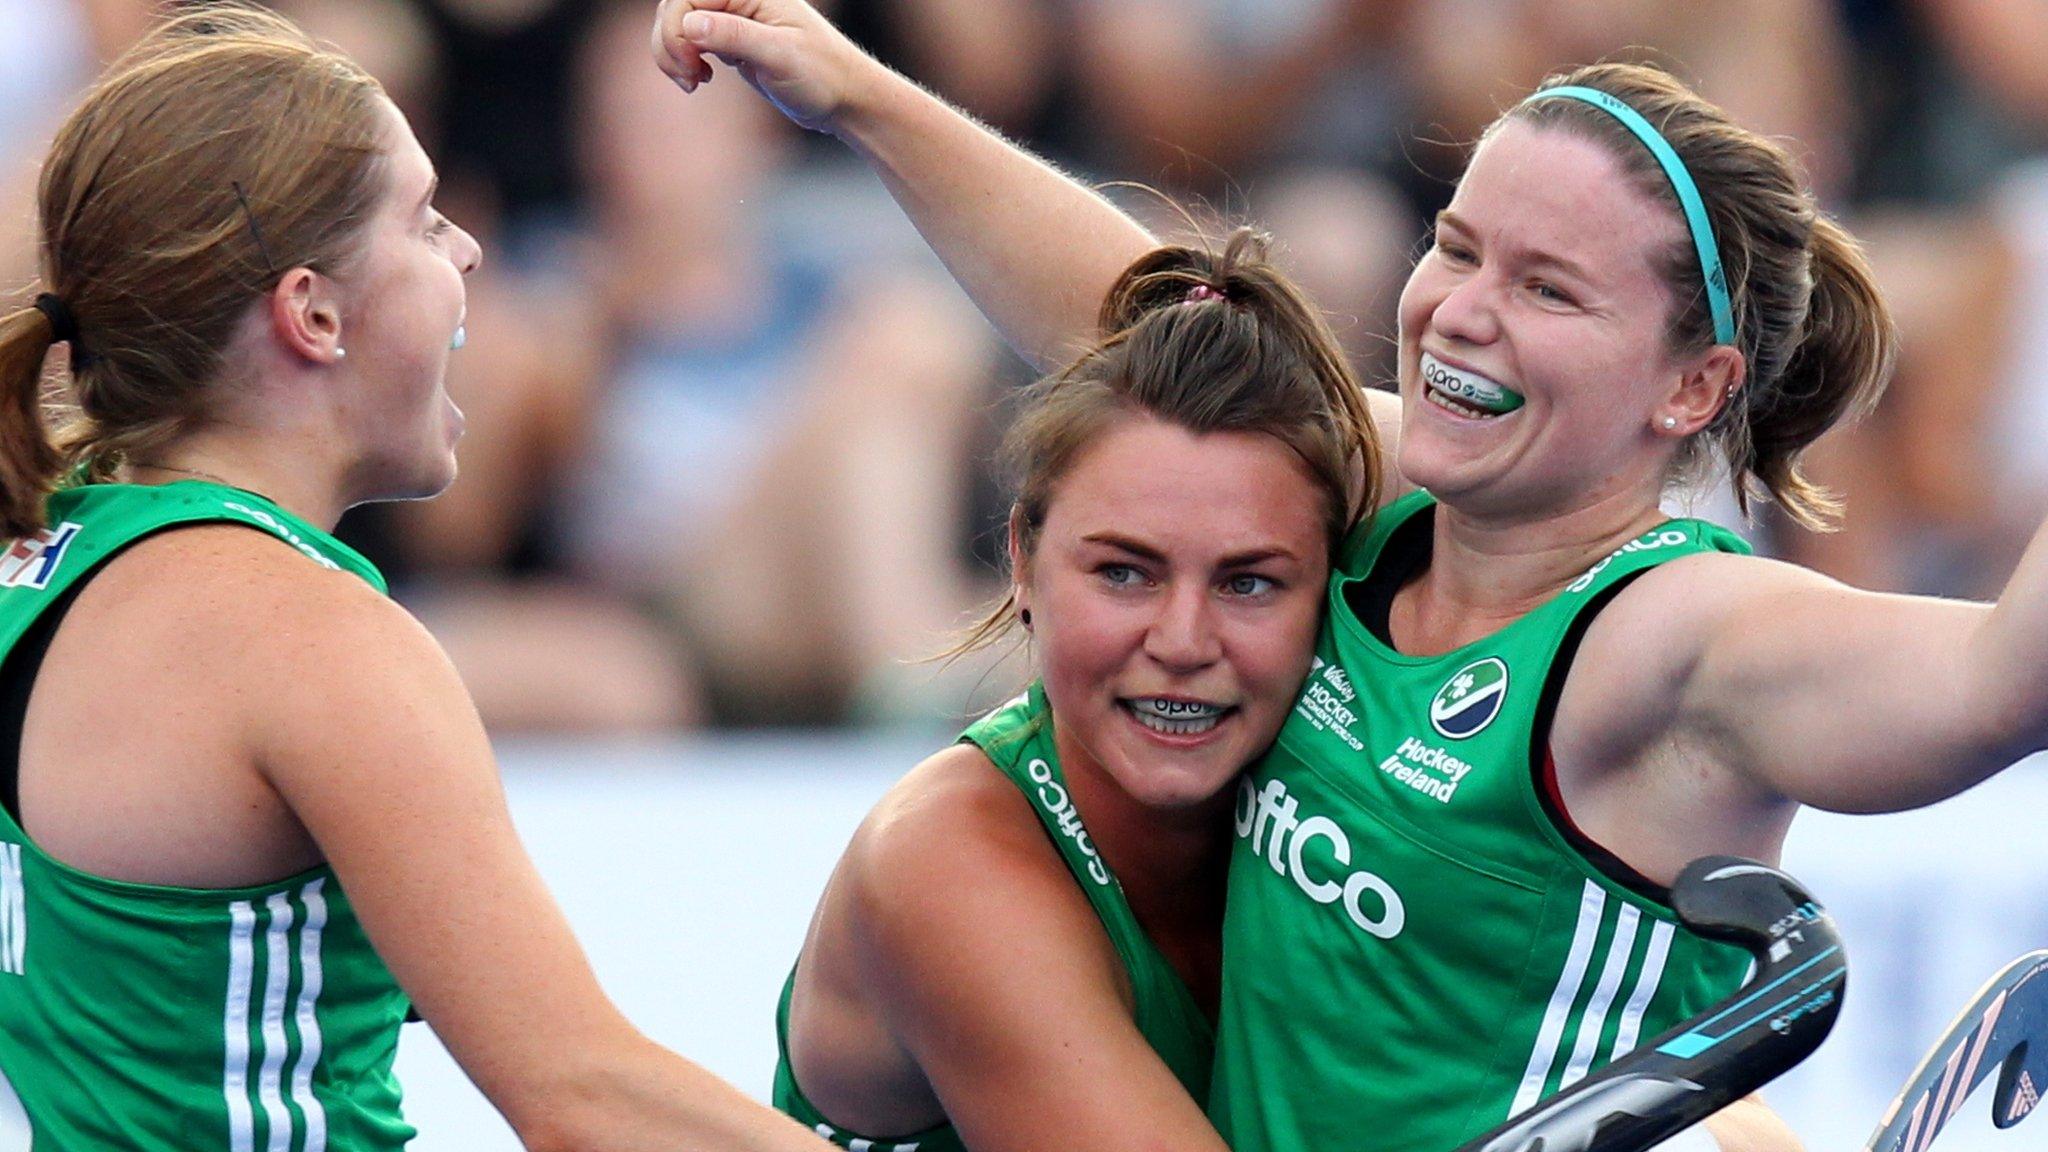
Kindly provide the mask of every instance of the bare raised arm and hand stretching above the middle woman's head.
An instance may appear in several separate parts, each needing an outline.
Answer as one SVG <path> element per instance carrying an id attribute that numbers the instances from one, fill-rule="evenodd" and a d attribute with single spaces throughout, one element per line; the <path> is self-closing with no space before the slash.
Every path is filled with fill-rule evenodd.
<path id="1" fill-rule="evenodd" d="M 1108 199 L 883 68 L 803 0 L 664 0 L 653 55 L 684 90 L 723 61 L 788 119 L 852 146 L 1040 369 L 1094 334 L 1110 283 L 1155 244 Z"/>

